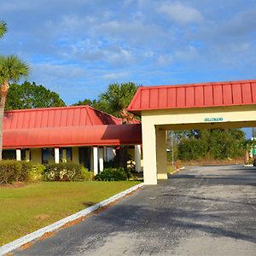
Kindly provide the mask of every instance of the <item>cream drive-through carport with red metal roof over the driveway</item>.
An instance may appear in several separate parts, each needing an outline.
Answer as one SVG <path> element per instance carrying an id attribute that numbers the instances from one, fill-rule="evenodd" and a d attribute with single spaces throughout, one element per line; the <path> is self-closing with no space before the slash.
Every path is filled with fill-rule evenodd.
<path id="1" fill-rule="evenodd" d="M 166 131 L 256 126 L 256 80 L 140 87 L 144 183 L 166 179 Z"/>

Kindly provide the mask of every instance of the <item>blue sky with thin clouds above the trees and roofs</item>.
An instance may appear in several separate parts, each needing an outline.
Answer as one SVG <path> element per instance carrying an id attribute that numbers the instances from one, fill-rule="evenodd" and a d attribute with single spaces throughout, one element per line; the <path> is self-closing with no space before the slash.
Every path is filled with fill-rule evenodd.
<path id="1" fill-rule="evenodd" d="M 8 0 L 0 54 L 72 104 L 113 82 L 256 79 L 255 0 Z"/>

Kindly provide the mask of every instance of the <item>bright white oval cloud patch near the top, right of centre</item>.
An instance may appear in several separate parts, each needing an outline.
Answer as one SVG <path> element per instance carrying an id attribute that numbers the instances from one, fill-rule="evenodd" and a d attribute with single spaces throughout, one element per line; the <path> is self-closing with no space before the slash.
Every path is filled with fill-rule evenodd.
<path id="1" fill-rule="evenodd" d="M 200 23 L 203 20 L 203 16 L 198 9 L 183 3 L 162 3 L 159 11 L 181 25 Z"/>

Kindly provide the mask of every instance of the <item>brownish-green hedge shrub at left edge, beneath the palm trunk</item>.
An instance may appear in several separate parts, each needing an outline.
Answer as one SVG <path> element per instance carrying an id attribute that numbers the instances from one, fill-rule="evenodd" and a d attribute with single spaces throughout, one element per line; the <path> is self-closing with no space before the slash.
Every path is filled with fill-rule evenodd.
<path id="1" fill-rule="evenodd" d="M 2 160 L 0 161 L 0 183 L 14 183 L 20 181 L 21 163 L 16 160 Z"/>

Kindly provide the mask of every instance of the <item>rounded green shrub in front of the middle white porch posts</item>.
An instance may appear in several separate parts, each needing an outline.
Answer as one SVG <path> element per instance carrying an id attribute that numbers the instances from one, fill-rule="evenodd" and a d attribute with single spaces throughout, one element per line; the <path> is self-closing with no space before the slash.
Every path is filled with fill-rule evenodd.
<path id="1" fill-rule="evenodd" d="M 43 178 L 46 181 L 79 181 L 83 180 L 82 165 L 68 162 L 45 166 Z"/>

